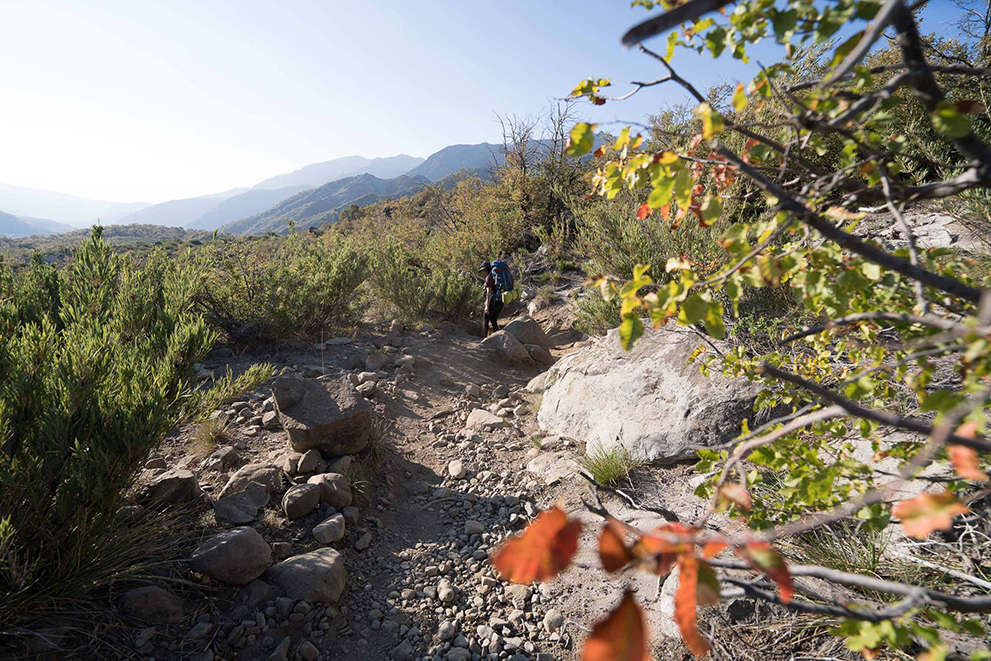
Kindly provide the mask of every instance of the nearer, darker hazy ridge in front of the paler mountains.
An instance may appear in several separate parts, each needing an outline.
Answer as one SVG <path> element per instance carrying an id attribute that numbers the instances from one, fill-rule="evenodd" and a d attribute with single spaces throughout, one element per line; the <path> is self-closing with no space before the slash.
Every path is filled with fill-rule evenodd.
<path id="1" fill-rule="evenodd" d="M 428 186 L 426 177 L 401 175 L 380 179 L 371 174 L 347 177 L 313 190 L 303 191 L 283 200 L 262 213 L 243 218 L 221 227 L 231 234 L 263 234 L 285 232 L 286 219 L 292 218 L 297 229 L 317 227 L 324 222 L 337 222 L 341 211 L 350 204 L 371 204 L 379 200 L 412 195 Z"/>

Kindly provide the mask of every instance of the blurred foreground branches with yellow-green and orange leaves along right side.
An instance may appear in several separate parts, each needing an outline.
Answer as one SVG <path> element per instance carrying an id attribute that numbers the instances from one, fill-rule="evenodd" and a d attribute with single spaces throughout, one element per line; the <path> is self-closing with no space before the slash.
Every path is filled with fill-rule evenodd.
<path id="1" fill-rule="evenodd" d="M 642 190 L 635 214 L 645 223 L 722 223 L 709 240 L 725 255 L 715 272 L 670 254 L 663 269 L 644 262 L 630 280 L 598 278 L 603 297 L 619 301 L 622 345 L 631 347 L 645 323 L 695 326 L 722 338 L 727 318 L 753 290 L 788 288 L 817 321 L 781 332 L 763 351 L 737 345 L 713 355 L 702 344 L 693 358 L 703 372 L 760 383 L 757 408 L 771 419 L 754 430 L 744 422 L 724 446 L 699 448 L 697 469 L 712 478 L 696 492 L 707 503 L 693 520 L 646 532 L 601 502 L 587 503 L 605 520 L 603 567 L 660 575 L 677 567 L 674 620 L 698 656 L 719 649 L 721 635 L 698 625 L 698 607 L 732 594 L 817 617 L 819 626 L 825 620 L 867 659 L 944 659 L 951 644 L 988 659 L 991 278 L 962 251 L 918 245 L 906 212 L 933 201 L 959 210 L 953 201 L 991 190 L 989 72 L 982 68 L 991 19 L 971 12 L 984 16 L 970 49 L 983 57 L 972 62 L 959 52 L 946 58 L 937 41 L 920 35 L 913 12 L 925 3 L 634 4 L 668 10 L 624 36 L 657 63 L 659 77 L 618 98 L 606 96 L 608 80 L 589 78 L 573 96 L 602 105 L 679 85 L 693 99 L 694 119 L 649 142 L 623 129 L 610 148 L 596 150 L 603 160 L 595 192 L 613 198 Z M 890 61 L 865 59 L 886 32 L 894 35 Z M 643 45 L 660 34 L 659 49 Z M 748 46 L 765 38 L 784 46 L 782 61 L 765 63 L 725 105 L 671 64 L 679 46 L 746 59 Z M 826 51 L 822 66 L 803 56 L 814 45 Z M 569 152 L 591 152 L 596 131 L 577 124 Z M 748 204 L 734 209 L 741 200 Z M 901 247 L 871 240 L 863 227 L 871 224 L 894 228 Z M 891 440 L 882 431 L 903 433 Z M 857 445 L 868 445 L 874 459 L 858 459 Z M 896 474 L 879 468 L 882 458 L 899 462 Z M 913 480 L 925 491 L 905 495 Z M 894 563 L 831 561 L 835 554 L 821 543 L 833 537 L 851 551 L 891 525 L 925 540 L 900 551 L 913 561 L 913 580 Z M 571 562 L 581 528 L 553 508 L 493 562 L 508 580 L 547 580 Z M 814 544 L 816 554 L 807 551 Z M 970 638 L 960 644 L 958 634 Z M 628 591 L 594 626 L 583 658 L 642 661 L 648 641 Z"/>

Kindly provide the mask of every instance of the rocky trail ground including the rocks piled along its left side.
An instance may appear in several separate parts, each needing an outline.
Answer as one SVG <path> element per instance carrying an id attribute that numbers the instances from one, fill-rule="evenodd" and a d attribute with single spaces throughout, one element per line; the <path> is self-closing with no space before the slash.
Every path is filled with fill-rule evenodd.
<path id="1" fill-rule="evenodd" d="M 595 523 L 575 476 L 582 448 L 535 419 L 546 363 L 581 338 L 567 328 L 547 335 L 528 317 L 514 326 L 479 342 L 453 325 L 394 325 L 308 352 L 212 357 L 204 377 L 266 359 L 286 370 L 215 412 L 229 420 L 218 445 L 185 428 L 149 460 L 140 502 L 190 501 L 200 533 L 163 576 L 185 587 L 149 581 L 119 599 L 134 627 L 127 651 L 147 661 L 578 658 L 588 627 L 627 584 L 600 573 L 595 527 L 554 582 L 511 585 L 489 562 L 498 542 L 555 503 Z M 535 359 L 513 354 L 521 349 Z M 328 393 L 321 406 L 351 422 L 320 419 L 313 398 Z M 359 418 L 370 438 L 348 447 L 347 425 Z M 307 436 L 320 429 L 340 451 Z M 687 503 L 687 480 L 672 490 L 664 475 L 656 493 Z M 657 520 L 620 499 L 610 507 Z M 660 587 L 656 577 L 638 585 L 655 601 Z"/>

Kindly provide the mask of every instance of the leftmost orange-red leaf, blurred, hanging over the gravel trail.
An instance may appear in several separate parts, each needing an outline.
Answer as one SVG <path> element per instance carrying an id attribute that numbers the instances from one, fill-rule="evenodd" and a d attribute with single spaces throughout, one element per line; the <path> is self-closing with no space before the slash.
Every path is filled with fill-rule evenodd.
<path id="1" fill-rule="evenodd" d="M 544 510 L 522 535 L 499 547 L 492 564 L 511 583 L 554 578 L 571 564 L 581 530 L 581 521 L 569 520 L 560 507 Z"/>

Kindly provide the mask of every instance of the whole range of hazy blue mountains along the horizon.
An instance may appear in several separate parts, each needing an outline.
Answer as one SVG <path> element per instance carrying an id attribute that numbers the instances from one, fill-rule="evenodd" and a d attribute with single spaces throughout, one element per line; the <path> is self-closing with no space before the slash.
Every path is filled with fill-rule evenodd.
<path id="1" fill-rule="evenodd" d="M 88 200 L 63 193 L 0 184 L 0 235 L 57 234 L 99 222 L 220 229 L 235 234 L 284 231 L 334 222 L 350 204 L 370 204 L 411 195 L 430 183 L 467 170 L 487 176 L 502 161 L 491 143 L 451 145 L 423 159 L 345 156 L 235 188 L 159 204 Z M 51 219 L 51 220 L 44 220 Z M 26 233 L 26 234 L 25 234 Z"/>

